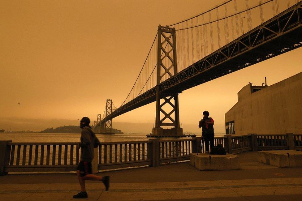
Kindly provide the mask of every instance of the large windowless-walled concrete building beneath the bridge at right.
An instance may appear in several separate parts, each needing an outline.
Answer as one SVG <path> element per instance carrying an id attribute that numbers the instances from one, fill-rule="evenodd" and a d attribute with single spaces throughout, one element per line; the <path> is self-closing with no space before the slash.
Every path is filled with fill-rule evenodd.
<path id="1" fill-rule="evenodd" d="M 225 121 L 226 134 L 302 134 L 302 72 L 271 86 L 244 86 Z"/>

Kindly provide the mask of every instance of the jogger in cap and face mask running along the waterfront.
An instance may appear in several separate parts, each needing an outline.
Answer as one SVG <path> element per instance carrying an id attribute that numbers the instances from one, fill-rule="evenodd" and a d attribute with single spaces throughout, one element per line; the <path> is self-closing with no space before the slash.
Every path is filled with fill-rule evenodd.
<path id="1" fill-rule="evenodd" d="M 81 161 L 76 170 L 76 175 L 78 176 L 81 192 L 74 195 L 73 198 L 88 198 L 85 180 L 98 180 L 102 181 L 106 187 L 109 188 L 109 176 L 100 177 L 92 174 L 91 161 L 94 156 L 94 148 L 99 146 L 100 141 L 95 136 L 95 133 L 91 130 L 89 126 L 90 119 L 88 117 L 83 117 L 80 120 L 80 127 L 82 128 L 81 142 L 78 146 L 81 148 Z"/>

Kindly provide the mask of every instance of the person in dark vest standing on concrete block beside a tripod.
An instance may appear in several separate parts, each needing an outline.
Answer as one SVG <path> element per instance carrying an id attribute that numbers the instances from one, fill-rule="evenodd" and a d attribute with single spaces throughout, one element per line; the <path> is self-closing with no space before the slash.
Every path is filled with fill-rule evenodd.
<path id="1" fill-rule="evenodd" d="M 205 152 L 209 153 L 209 142 L 211 150 L 214 147 L 214 120 L 209 117 L 209 112 L 203 112 L 203 119 L 199 121 L 198 127 L 202 127 L 202 136 L 205 142 Z"/>

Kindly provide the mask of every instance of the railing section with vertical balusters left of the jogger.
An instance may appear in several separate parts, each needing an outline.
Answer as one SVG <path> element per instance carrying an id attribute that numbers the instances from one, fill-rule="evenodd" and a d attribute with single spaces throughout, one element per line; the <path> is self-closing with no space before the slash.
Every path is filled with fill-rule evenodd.
<path id="1" fill-rule="evenodd" d="M 77 143 L 12 143 L 7 172 L 75 171 L 79 164 Z"/>

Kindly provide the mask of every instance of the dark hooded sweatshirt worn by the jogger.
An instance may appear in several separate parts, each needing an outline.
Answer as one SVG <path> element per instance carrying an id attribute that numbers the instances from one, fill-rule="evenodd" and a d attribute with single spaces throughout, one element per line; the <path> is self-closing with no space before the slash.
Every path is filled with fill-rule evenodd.
<path id="1" fill-rule="evenodd" d="M 95 133 L 89 126 L 85 126 L 81 133 L 81 161 L 91 162 L 94 157 L 93 148 L 96 148 L 100 144 L 99 139 L 95 136 Z"/>

